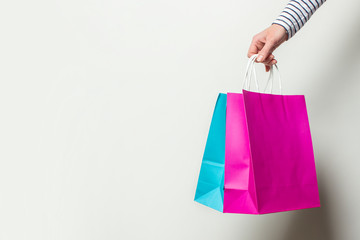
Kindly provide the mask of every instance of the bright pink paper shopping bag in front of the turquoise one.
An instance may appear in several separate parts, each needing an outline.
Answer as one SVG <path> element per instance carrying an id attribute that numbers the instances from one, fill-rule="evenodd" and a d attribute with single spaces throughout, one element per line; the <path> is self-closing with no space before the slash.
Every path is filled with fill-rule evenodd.
<path id="1" fill-rule="evenodd" d="M 249 85 L 255 59 L 247 68 Z M 320 199 L 305 97 L 228 93 L 223 211 L 265 214 L 313 207 L 320 207 Z"/>

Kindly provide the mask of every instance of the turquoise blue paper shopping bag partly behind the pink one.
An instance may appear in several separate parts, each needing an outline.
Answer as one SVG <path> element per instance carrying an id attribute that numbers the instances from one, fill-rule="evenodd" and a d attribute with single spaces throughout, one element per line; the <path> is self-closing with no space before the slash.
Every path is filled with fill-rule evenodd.
<path id="1" fill-rule="evenodd" d="M 223 211 L 225 164 L 226 94 L 220 93 L 216 101 L 206 141 L 195 201 Z"/>

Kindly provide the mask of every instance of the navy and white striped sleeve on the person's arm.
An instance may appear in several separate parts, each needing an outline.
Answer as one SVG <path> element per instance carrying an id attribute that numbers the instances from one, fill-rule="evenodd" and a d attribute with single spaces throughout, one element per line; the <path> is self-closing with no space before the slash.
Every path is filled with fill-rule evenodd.
<path id="1" fill-rule="evenodd" d="M 326 0 L 291 0 L 272 24 L 285 28 L 288 39 L 304 26 Z"/>

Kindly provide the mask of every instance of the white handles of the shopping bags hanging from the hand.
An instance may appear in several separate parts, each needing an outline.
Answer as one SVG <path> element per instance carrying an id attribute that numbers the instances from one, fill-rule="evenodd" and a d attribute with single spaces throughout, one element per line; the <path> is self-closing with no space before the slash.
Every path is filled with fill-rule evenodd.
<path id="1" fill-rule="evenodd" d="M 252 78 L 252 72 L 254 74 L 254 79 L 255 79 L 255 86 L 256 86 L 256 90 L 258 92 L 260 92 L 259 90 L 259 83 L 256 79 L 256 71 L 255 71 L 255 60 L 258 57 L 258 54 L 254 54 L 249 58 L 249 61 L 247 63 L 246 66 L 246 72 L 245 72 L 245 77 L 244 77 L 244 82 L 243 82 L 243 89 L 249 89 L 250 90 L 250 83 L 251 83 L 251 78 Z M 279 76 L 279 90 L 280 90 L 280 94 L 282 93 L 282 84 L 281 84 L 281 77 L 280 77 L 280 72 L 279 72 L 279 68 L 276 64 L 272 65 L 270 67 L 270 73 L 269 73 L 269 77 L 268 80 L 266 82 L 266 86 L 264 89 L 264 92 L 266 91 L 269 82 L 270 82 L 270 93 L 272 93 L 273 90 L 273 82 L 274 82 L 274 67 L 276 68 L 277 74 Z M 246 87 L 246 84 L 248 85 Z"/>

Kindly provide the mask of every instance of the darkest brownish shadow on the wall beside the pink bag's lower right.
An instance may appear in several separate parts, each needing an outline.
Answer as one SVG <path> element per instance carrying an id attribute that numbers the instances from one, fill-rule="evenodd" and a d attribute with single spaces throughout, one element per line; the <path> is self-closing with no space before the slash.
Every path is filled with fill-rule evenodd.
<path id="1" fill-rule="evenodd" d="M 318 174 L 321 207 L 294 211 L 281 240 L 335 240 L 325 182 Z"/>

